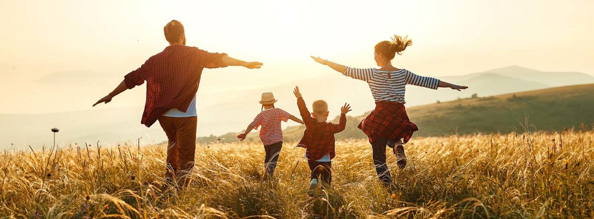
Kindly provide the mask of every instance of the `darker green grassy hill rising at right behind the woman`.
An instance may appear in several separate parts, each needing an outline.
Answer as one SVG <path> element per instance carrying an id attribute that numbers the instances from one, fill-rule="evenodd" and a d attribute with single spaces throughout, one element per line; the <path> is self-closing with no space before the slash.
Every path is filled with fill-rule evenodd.
<path id="1" fill-rule="evenodd" d="M 594 84 L 547 88 L 499 96 L 476 97 L 407 108 L 410 120 L 419 126 L 415 136 L 508 133 L 513 131 L 560 131 L 594 127 Z M 349 116 L 347 128 L 337 139 L 365 138 L 356 128 L 362 116 Z M 337 122 L 337 118 L 333 120 Z M 290 126 L 287 140 L 301 138 L 304 126 Z M 198 138 L 198 142 L 236 141 L 235 133 Z M 258 141 L 250 134 L 249 141 Z"/>

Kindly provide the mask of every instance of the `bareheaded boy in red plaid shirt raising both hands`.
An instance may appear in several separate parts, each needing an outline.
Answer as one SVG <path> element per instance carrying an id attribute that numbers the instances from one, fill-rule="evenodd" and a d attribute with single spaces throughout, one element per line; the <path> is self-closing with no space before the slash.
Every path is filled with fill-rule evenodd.
<path id="1" fill-rule="evenodd" d="M 301 118 L 305 122 L 305 132 L 297 146 L 305 148 L 304 157 L 307 158 L 307 164 L 311 170 L 308 194 L 314 196 L 315 188 L 318 186 L 318 177 L 321 177 L 321 180 L 328 185 L 332 182 L 331 160 L 335 155 L 334 134 L 345 130 L 346 113 L 350 112 L 350 105 L 345 103 L 345 106 L 340 109 L 339 123 L 333 124 L 326 122 L 328 119 L 326 101 L 314 101 L 312 104 L 314 112 L 309 115 L 305 101 L 299 93 L 299 87 L 295 87 L 293 94 L 297 97 L 297 106 Z"/>

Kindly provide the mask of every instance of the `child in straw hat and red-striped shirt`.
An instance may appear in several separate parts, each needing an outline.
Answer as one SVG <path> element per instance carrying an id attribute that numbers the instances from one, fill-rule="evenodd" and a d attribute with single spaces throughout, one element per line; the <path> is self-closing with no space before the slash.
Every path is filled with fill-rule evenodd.
<path id="1" fill-rule="evenodd" d="M 283 130 L 280 128 L 280 121 L 287 122 L 291 119 L 295 122 L 303 124 L 303 121 L 296 118 L 293 115 L 285 112 L 285 110 L 275 108 L 276 103 L 274 95 L 272 93 L 263 93 L 260 104 L 262 104 L 262 112 L 260 112 L 254 121 L 248 125 L 245 129 L 244 134 L 239 134 L 237 138 L 244 141 L 252 129 L 258 129 L 258 126 L 262 126 L 260 130 L 260 139 L 264 144 L 264 151 L 266 151 L 266 157 L 264 157 L 264 166 L 266 167 L 266 173 L 264 174 L 264 180 L 272 177 L 274 169 L 276 168 L 276 162 L 279 160 L 280 148 L 283 147 Z"/>

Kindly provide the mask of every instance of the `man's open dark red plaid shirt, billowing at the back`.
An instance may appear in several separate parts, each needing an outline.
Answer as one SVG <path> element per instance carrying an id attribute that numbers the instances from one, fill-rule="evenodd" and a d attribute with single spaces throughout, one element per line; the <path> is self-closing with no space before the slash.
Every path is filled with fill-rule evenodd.
<path id="1" fill-rule="evenodd" d="M 225 53 L 210 53 L 197 47 L 168 46 L 140 68 L 124 76 L 128 89 L 147 81 L 147 97 L 140 123 L 153 125 L 169 109 L 185 112 L 200 84 L 204 68 L 226 67 Z"/>

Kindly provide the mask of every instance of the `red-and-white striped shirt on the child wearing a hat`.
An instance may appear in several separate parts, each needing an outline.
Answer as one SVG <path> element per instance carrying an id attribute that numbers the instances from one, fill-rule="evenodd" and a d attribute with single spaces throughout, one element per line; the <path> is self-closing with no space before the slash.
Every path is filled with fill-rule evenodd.
<path id="1" fill-rule="evenodd" d="M 283 129 L 280 127 L 280 121 L 286 122 L 289 117 L 290 114 L 285 110 L 279 108 L 267 109 L 260 112 L 249 125 L 254 126 L 254 129 L 262 126 L 260 130 L 262 144 L 271 145 L 283 141 Z"/>

